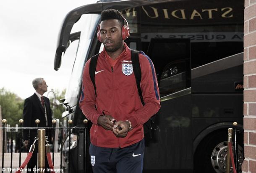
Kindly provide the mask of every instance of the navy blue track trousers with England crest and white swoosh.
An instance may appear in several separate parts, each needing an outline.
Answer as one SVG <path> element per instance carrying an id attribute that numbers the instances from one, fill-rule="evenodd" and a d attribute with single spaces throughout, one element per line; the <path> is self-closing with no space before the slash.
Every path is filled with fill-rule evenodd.
<path id="1" fill-rule="evenodd" d="M 102 148 L 90 145 L 94 173 L 142 173 L 144 139 L 125 148 Z"/>

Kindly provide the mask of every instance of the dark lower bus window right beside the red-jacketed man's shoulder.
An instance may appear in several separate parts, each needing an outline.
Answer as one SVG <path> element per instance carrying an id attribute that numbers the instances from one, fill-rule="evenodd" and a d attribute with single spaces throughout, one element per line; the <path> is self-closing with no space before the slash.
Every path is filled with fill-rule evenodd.
<path id="1" fill-rule="evenodd" d="M 190 87 L 190 41 L 152 38 L 147 51 L 152 59 L 160 97 Z"/>

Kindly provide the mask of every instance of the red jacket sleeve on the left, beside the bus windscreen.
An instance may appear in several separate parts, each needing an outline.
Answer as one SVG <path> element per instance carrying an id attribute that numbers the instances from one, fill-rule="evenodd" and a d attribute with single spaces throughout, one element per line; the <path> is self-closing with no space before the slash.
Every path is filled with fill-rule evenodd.
<path id="1" fill-rule="evenodd" d="M 100 112 L 95 108 L 96 105 L 96 96 L 94 92 L 94 86 L 92 84 L 90 74 L 89 74 L 89 64 L 91 60 L 87 61 L 84 66 L 83 79 L 82 79 L 82 92 L 80 98 L 80 108 L 83 114 L 90 120 L 92 123 L 97 125 L 97 121 Z"/>

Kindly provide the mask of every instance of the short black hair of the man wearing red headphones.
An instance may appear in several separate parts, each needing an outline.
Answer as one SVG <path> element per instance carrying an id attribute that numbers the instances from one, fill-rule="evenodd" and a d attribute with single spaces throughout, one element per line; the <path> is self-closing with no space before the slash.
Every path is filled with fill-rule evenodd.
<path id="1" fill-rule="evenodd" d="M 115 9 L 107 9 L 101 12 L 100 22 L 104 20 L 117 19 L 121 26 L 125 25 L 122 14 Z"/>

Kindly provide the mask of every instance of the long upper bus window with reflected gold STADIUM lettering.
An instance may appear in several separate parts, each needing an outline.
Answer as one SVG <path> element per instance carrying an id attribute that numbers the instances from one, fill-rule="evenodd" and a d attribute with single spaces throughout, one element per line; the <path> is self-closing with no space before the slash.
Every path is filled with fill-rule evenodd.
<path id="1" fill-rule="evenodd" d="M 190 0 L 141 6 L 141 48 L 148 50 L 152 38 L 188 38 L 192 69 L 241 53 L 243 2 Z"/>

